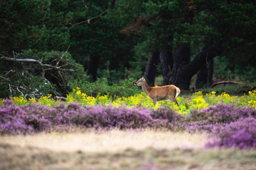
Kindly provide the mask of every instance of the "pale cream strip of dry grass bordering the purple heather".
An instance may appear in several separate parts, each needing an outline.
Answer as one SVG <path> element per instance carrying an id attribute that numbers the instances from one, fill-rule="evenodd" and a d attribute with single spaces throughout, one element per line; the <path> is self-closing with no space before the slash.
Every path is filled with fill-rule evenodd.
<path id="1" fill-rule="evenodd" d="M 127 149 L 199 148 L 207 142 L 207 135 L 174 133 L 167 130 L 88 131 L 86 133 L 51 133 L 4 136 L 0 143 L 20 147 L 46 148 L 52 151 L 119 152 Z"/>

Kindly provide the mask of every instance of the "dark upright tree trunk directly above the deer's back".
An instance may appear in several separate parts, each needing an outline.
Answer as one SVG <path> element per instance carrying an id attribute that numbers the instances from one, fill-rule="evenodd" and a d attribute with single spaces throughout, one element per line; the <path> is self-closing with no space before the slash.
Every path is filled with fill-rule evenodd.
<path id="1" fill-rule="evenodd" d="M 170 84 L 171 76 L 171 56 L 166 52 L 160 52 L 161 70 L 163 75 L 163 85 Z"/>

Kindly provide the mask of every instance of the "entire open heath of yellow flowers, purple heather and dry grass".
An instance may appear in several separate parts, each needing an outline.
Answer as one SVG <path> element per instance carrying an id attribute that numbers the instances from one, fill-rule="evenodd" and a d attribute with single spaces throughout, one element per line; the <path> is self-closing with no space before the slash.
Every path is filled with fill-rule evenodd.
<path id="1" fill-rule="evenodd" d="M 1 100 L 1 169 L 253 169 L 256 91 Z"/>

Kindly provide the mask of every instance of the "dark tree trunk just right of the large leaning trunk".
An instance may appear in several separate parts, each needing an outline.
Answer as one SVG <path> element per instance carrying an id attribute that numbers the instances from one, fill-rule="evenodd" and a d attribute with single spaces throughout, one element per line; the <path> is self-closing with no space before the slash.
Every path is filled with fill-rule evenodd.
<path id="1" fill-rule="evenodd" d="M 213 59 L 204 63 L 196 76 L 196 88 L 208 88 L 212 85 Z"/>

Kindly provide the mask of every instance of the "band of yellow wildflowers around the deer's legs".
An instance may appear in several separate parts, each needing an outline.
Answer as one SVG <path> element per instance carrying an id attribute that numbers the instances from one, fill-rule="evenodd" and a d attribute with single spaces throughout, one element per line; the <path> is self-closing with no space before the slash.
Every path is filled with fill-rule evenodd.
<path id="1" fill-rule="evenodd" d="M 107 95 L 102 96 L 101 94 L 97 94 L 96 97 L 84 94 L 79 87 L 72 90 L 72 92 L 67 95 L 67 100 L 65 101 L 65 105 L 69 103 L 79 103 L 81 105 L 93 105 L 97 106 L 101 104 L 102 106 L 112 105 L 113 107 L 146 107 L 146 108 L 154 108 L 158 109 L 161 107 L 172 108 L 179 114 L 190 114 L 192 109 L 196 109 L 197 111 L 201 111 L 204 108 L 207 108 L 209 105 L 217 105 L 218 103 L 225 104 L 233 104 L 236 106 L 250 106 L 256 109 L 256 91 L 249 91 L 249 95 L 243 95 L 241 97 L 238 96 L 230 96 L 225 92 L 221 95 L 216 96 L 216 92 L 210 92 L 203 96 L 201 91 L 195 92 L 192 96 L 192 99 L 184 99 L 184 97 L 177 97 L 177 101 L 179 103 L 179 107 L 171 103 L 170 101 L 159 101 L 158 104 L 154 106 L 152 101 L 148 99 L 148 96 L 142 92 L 141 94 L 135 94 L 134 96 L 128 97 L 120 97 L 120 96 L 111 96 L 109 93 Z M 10 99 L 16 105 L 27 105 L 31 103 L 38 103 L 41 105 L 47 105 L 48 107 L 56 107 L 56 105 L 60 104 L 59 100 L 53 100 L 52 95 L 48 94 L 47 96 L 42 96 L 40 99 L 26 99 L 24 96 L 19 97 L 10 97 Z M 0 99 L 0 105 L 3 104 L 3 99 Z"/>

